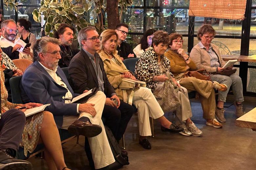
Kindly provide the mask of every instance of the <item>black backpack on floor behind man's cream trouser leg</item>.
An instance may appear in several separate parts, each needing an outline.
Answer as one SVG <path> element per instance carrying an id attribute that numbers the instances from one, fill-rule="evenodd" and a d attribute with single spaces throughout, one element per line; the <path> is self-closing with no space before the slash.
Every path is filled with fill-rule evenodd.
<path id="1" fill-rule="evenodd" d="M 107 138 L 108 138 L 108 142 L 111 148 L 111 151 L 113 153 L 113 156 L 115 158 L 115 162 L 111 163 L 110 165 L 108 165 L 108 170 L 116 170 L 119 169 L 121 167 L 123 167 L 124 165 L 129 165 L 129 160 L 128 160 L 128 152 L 125 150 L 122 150 L 119 146 L 119 144 L 117 143 L 117 140 L 115 139 L 114 135 L 112 134 L 111 130 L 109 127 L 105 127 L 105 131 L 107 134 Z M 85 152 L 89 161 L 89 165 L 92 167 L 92 169 L 95 169 L 94 167 L 94 162 L 93 162 L 93 158 L 92 158 L 92 152 L 89 146 L 89 142 L 88 139 L 85 138 Z"/>

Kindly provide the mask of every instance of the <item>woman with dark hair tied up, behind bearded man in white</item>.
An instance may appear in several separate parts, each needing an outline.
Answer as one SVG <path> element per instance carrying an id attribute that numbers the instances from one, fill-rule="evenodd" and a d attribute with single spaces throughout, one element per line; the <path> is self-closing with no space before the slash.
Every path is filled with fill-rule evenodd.
<path id="1" fill-rule="evenodd" d="M 17 36 L 20 37 L 20 39 L 23 40 L 25 43 L 31 43 L 30 48 L 33 48 L 36 42 L 36 38 L 35 35 L 29 30 L 31 27 L 31 22 L 27 21 L 24 18 L 20 18 L 17 22 L 17 29 L 19 31 Z"/>

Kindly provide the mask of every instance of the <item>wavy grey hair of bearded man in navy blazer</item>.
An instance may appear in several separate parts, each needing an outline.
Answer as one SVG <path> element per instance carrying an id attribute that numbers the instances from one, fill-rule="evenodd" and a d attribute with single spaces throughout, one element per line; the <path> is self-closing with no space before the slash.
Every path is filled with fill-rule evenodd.
<path id="1" fill-rule="evenodd" d="M 56 38 L 52 38 L 52 37 L 42 37 L 38 40 L 36 40 L 36 43 L 33 47 L 33 55 L 34 55 L 34 58 L 33 58 L 33 62 L 35 61 L 40 61 L 40 58 L 39 58 L 39 53 L 43 53 L 45 54 L 48 47 L 47 47 L 47 44 L 51 42 L 53 44 L 57 44 L 57 45 L 60 45 L 60 41 Z"/>

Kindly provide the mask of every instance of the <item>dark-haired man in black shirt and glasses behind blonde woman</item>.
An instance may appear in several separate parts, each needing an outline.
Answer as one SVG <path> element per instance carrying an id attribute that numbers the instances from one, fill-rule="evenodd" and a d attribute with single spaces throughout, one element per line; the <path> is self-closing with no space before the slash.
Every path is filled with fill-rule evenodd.
<path id="1" fill-rule="evenodd" d="M 128 35 L 129 26 L 127 24 L 121 23 L 116 26 L 115 31 L 117 32 L 118 39 L 117 39 L 117 51 L 118 55 L 121 57 L 121 60 L 129 59 L 129 58 L 136 58 L 131 45 L 124 42 L 127 35 Z"/>

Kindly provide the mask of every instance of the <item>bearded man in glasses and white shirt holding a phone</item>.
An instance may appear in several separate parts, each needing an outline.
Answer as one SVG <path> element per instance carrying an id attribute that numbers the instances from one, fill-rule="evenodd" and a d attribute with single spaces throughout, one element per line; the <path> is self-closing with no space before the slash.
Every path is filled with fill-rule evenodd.
<path id="1" fill-rule="evenodd" d="M 0 38 L 1 47 L 9 47 L 12 49 L 6 53 L 10 59 L 30 59 L 32 61 L 32 49 L 27 47 L 24 49 L 26 43 L 16 36 L 18 33 L 17 25 L 14 20 L 5 20 L 1 24 L 2 36 Z"/>

